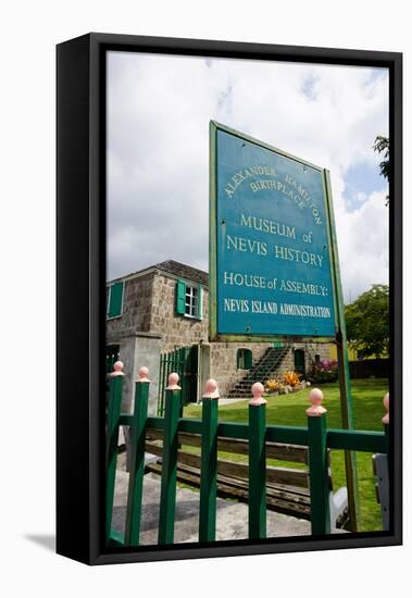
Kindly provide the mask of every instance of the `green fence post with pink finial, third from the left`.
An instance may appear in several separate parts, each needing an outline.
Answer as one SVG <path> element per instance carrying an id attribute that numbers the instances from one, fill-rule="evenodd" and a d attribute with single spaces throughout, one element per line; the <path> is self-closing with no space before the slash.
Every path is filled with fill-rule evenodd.
<path id="1" fill-rule="evenodd" d="M 176 504 L 176 466 L 177 466 L 177 427 L 180 411 L 180 387 L 178 374 L 168 376 L 166 388 L 162 483 L 160 490 L 159 544 L 173 544 Z"/>

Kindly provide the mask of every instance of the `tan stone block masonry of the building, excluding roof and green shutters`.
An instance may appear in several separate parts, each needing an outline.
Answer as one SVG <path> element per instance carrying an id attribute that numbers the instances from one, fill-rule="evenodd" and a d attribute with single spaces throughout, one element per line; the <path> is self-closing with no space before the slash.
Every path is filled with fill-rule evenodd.
<path id="1" fill-rule="evenodd" d="M 211 342 L 209 345 L 208 289 L 203 287 L 202 319 L 198 320 L 176 314 L 176 284 L 175 277 L 161 272 L 150 272 L 126 281 L 123 313 L 121 317 L 107 322 L 107 342 L 118 342 L 122 353 L 122 345 L 127 345 L 130 341 L 126 339 L 138 333 L 146 333 L 148 336 L 159 338 L 159 341 L 154 344 L 159 350 L 159 357 L 160 352 L 168 352 L 176 347 L 186 347 L 193 344 L 208 345 L 208 351 L 202 351 L 202 354 L 205 356 L 204 361 L 209 360 L 209 363 L 201 364 L 201 377 L 203 379 L 207 372 L 209 372 L 211 377 L 217 379 L 221 395 L 225 396 L 230 387 L 247 374 L 247 371 L 237 369 L 237 350 L 239 348 L 251 349 L 254 365 L 265 350 L 272 347 L 272 344 Z M 315 353 L 319 353 L 321 359 L 329 358 L 329 345 L 312 345 L 308 348 L 304 345 L 296 344 L 294 347 L 304 349 L 307 370 L 314 360 Z M 125 349 L 126 347 L 124 347 Z M 145 365 L 145 354 L 140 351 L 139 353 L 141 363 L 136 364 L 134 362 L 134 369 L 138 365 Z M 152 354 L 151 360 L 153 361 Z M 279 374 L 294 369 L 294 352 L 290 349 L 282 363 Z M 150 372 L 150 378 L 155 384 L 158 376 L 159 369 L 154 367 L 154 371 Z"/>

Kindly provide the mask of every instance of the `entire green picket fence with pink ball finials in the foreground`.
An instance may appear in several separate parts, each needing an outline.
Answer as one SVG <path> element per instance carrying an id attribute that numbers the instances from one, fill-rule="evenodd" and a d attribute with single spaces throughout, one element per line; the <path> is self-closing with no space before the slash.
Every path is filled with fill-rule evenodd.
<path id="1" fill-rule="evenodd" d="M 141 500 L 145 473 L 145 441 L 148 429 L 162 431 L 163 459 L 161 476 L 159 545 L 174 541 L 176 472 L 178 433 L 201 436 L 201 478 L 199 541 L 213 541 L 216 531 L 216 469 L 217 438 L 233 438 L 249 443 L 249 538 L 266 537 L 266 456 L 265 443 L 292 444 L 309 447 L 309 472 L 311 496 L 311 528 L 313 535 L 330 533 L 329 478 L 327 449 L 387 453 L 388 414 L 384 432 L 330 429 L 327 427 L 326 410 L 322 407 L 322 393 L 312 389 L 307 410 L 308 426 L 266 425 L 263 386 L 255 383 L 253 398 L 249 402 L 249 422 L 220 423 L 217 419 L 217 385 L 208 381 L 202 402 L 201 420 L 180 416 L 178 375 L 172 373 L 165 388 L 164 418 L 148 416 L 149 379 L 147 367 L 141 367 L 135 384 L 133 414 L 121 412 L 123 365 L 114 364 L 110 381 L 110 403 L 107 423 L 107 520 L 105 540 L 110 546 L 139 545 Z M 387 403 L 386 403 L 387 404 Z M 112 528 L 117 436 L 121 425 L 130 428 L 130 468 L 126 509 L 125 533 Z"/>

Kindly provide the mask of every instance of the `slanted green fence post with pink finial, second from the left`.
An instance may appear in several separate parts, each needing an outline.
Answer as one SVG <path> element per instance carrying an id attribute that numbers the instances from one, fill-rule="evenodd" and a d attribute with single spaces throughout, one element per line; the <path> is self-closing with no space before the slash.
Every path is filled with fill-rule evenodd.
<path id="1" fill-rule="evenodd" d="M 135 408 L 130 425 L 130 471 L 128 477 L 125 546 L 138 546 L 145 473 L 146 421 L 148 416 L 149 370 L 140 367 L 135 384 Z"/>

